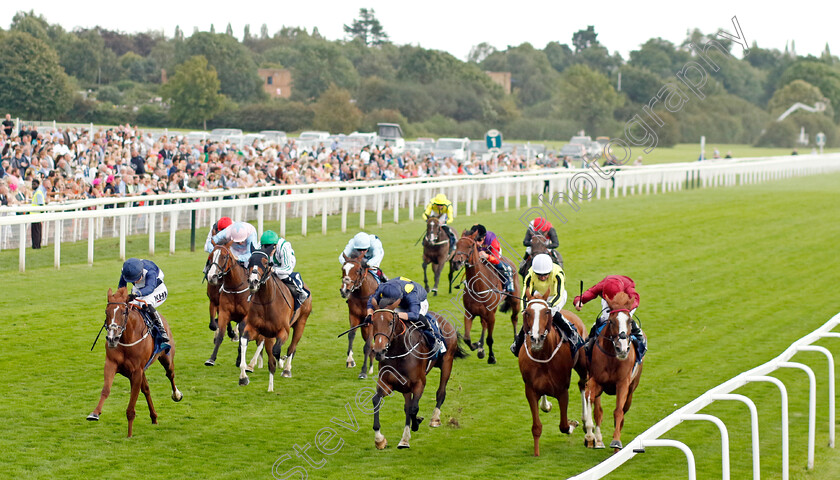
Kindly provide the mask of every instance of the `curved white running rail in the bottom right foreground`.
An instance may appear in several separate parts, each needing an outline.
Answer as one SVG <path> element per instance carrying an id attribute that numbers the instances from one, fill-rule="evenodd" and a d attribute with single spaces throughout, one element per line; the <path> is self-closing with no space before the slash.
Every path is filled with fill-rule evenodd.
<path id="1" fill-rule="evenodd" d="M 660 439 L 662 435 L 669 430 L 676 427 L 684 421 L 704 420 L 714 422 L 721 432 L 721 449 L 722 449 L 722 474 L 723 480 L 729 480 L 729 436 L 724 423 L 712 415 L 698 414 L 700 410 L 715 401 L 734 400 L 746 404 L 750 410 L 750 423 L 752 433 L 752 461 L 753 461 L 753 479 L 761 478 L 760 472 L 760 450 L 758 441 L 758 413 L 755 403 L 744 395 L 733 394 L 732 392 L 748 383 L 753 382 L 768 382 L 776 385 L 779 388 L 782 399 L 782 479 L 787 480 L 790 474 L 790 438 L 789 438 L 789 421 L 788 421 L 788 390 L 784 383 L 775 377 L 768 376 L 770 373 L 781 368 L 794 368 L 804 371 L 808 375 L 809 389 L 808 389 L 808 469 L 814 468 L 814 438 L 816 435 L 816 404 L 817 404 L 817 383 L 813 370 L 807 365 L 797 362 L 791 362 L 791 358 L 799 352 L 818 352 L 822 353 L 828 359 L 828 432 L 829 432 L 829 446 L 834 448 L 835 436 L 835 400 L 834 400 L 834 356 L 825 347 L 812 345 L 821 338 L 840 338 L 840 333 L 832 332 L 838 324 L 840 324 L 840 313 L 835 315 L 831 320 L 823 324 L 817 330 L 800 338 L 787 348 L 781 355 L 770 360 L 769 362 L 747 370 L 744 373 L 724 382 L 717 387 L 712 388 L 703 395 L 697 397 L 689 402 L 684 407 L 678 409 L 674 413 L 660 420 L 654 426 L 645 430 L 636 436 L 630 443 L 626 444 L 622 450 L 605 460 L 602 463 L 590 468 L 589 470 L 571 477 L 571 480 L 594 480 L 603 478 L 613 470 L 617 469 L 625 462 L 636 456 L 638 453 L 644 453 L 648 447 L 674 447 L 679 448 L 686 455 L 688 462 L 688 478 L 694 480 L 696 478 L 694 455 L 691 449 L 682 442 L 676 440 Z M 676 474 L 674 475 L 676 477 Z"/>

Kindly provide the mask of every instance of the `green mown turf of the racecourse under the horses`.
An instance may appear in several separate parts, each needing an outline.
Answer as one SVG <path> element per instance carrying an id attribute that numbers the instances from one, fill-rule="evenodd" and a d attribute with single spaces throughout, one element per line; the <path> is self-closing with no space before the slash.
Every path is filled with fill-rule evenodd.
<path id="1" fill-rule="evenodd" d="M 577 294 L 579 280 L 591 284 L 612 273 L 633 277 L 642 296 L 638 313 L 651 350 L 627 415 L 625 443 L 707 389 L 775 357 L 840 310 L 833 293 L 840 283 L 838 185 L 840 175 L 835 174 L 599 200 L 582 204 L 577 212 L 564 212 L 568 223 L 556 226 L 570 297 Z M 455 225 L 481 221 L 511 244 L 521 245 L 522 211 L 488 212 L 482 205 L 479 215 L 459 217 Z M 375 216 L 368 218 L 375 221 Z M 386 213 L 384 218 L 392 217 Z M 272 226 L 268 223 L 266 228 Z M 385 223 L 370 230 L 383 238 L 386 273 L 422 277 L 420 250 L 413 247 L 419 222 Z M 298 230 L 290 226 L 289 231 Z M 512 332 L 504 319 L 497 325 L 497 365 L 487 365 L 475 354 L 456 362 L 443 407 L 444 422 L 453 419 L 452 424 L 432 430 L 424 422 L 413 435 L 412 448 L 397 450 L 403 401 L 390 397 L 382 411 L 382 432 L 391 447 L 375 450 L 372 419 L 355 405 L 357 392 L 373 381 L 360 381 L 357 369 L 344 367 L 346 341 L 335 338 L 347 328 L 337 291 L 336 258 L 349 235 L 289 237 L 315 303 L 294 377 L 278 376 L 275 394 L 265 391 L 264 369 L 251 375 L 249 386 L 237 385 L 234 345 L 229 341 L 216 367 L 203 365 L 212 346 L 204 286 L 199 282 L 205 256 L 183 249 L 170 256 L 161 236 L 153 259 L 166 273 L 170 296 L 161 312 L 173 326 L 177 383 L 185 397 L 173 403 L 162 368 L 151 367 L 159 425 L 149 423 L 141 400 L 132 439 L 124 438 L 128 381 L 123 377 L 114 383 L 102 420 L 85 421 L 102 387 L 104 345 L 97 345 L 93 353 L 88 350 L 104 318 L 105 292 L 118 279 L 120 263 L 111 259 L 115 244 L 97 245 L 93 268 L 84 264 L 85 245 L 64 246 L 67 258 L 60 271 L 51 268 L 49 247 L 28 257 L 31 263 L 24 274 L 17 272 L 16 251 L 0 252 L 2 476 L 132 478 L 142 472 L 149 478 L 271 478 L 272 465 L 288 454 L 278 477 L 302 465 L 309 478 L 566 478 L 609 456 L 604 450 L 584 449 L 580 430 L 571 437 L 561 435 L 555 410 L 542 417 L 542 457 L 531 457 L 530 414 L 518 368 L 507 352 Z M 185 245 L 182 238 L 180 234 L 180 246 Z M 142 256 L 145 251 L 144 238 L 129 242 L 129 255 Z M 449 299 L 432 299 L 432 309 L 455 310 Z M 596 310 L 595 305 L 586 306 L 587 323 Z M 473 336 L 477 334 L 474 327 Z M 840 351 L 837 342 L 820 343 Z M 825 360 L 812 353 L 795 359 L 812 365 L 819 382 L 817 469 L 805 470 L 807 380 L 799 371 L 779 372 L 774 375 L 792 392 L 791 478 L 833 479 L 840 455 L 826 447 Z M 421 401 L 421 414 L 427 418 L 437 379 L 435 371 Z M 758 404 L 762 478 L 780 478 L 778 390 L 755 385 L 737 392 L 749 394 Z M 571 398 L 570 416 L 578 418 L 580 400 L 574 390 Z M 330 422 L 332 417 L 347 419 L 348 404 L 358 431 Z M 605 397 L 604 405 L 606 437 L 612 432 L 613 397 Z M 732 478 L 751 478 L 746 408 L 721 403 L 704 411 L 727 422 Z M 325 427 L 339 432 L 342 447 L 325 456 L 312 446 L 313 460 L 324 463 L 320 468 L 306 465 L 294 445 L 313 444 Z M 699 478 L 720 476 L 715 427 L 683 424 L 668 437 L 694 449 Z M 681 453 L 651 449 L 608 478 L 684 475 Z"/>

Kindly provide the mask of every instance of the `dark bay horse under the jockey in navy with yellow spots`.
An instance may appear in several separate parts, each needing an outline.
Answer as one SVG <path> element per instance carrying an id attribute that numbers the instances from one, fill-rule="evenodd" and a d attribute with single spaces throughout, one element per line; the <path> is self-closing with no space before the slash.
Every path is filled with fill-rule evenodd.
<path id="1" fill-rule="evenodd" d="M 373 396 L 373 430 L 374 444 L 382 450 L 388 444 L 385 436 L 380 432 L 379 410 L 382 397 L 386 397 L 394 390 L 405 397 L 405 428 L 397 448 L 409 448 L 411 432 L 420 428 L 423 417 L 418 417 L 420 411 L 420 397 L 426 387 L 426 374 L 432 367 L 440 369 L 440 384 L 435 396 L 435 410 L 430 427 L 439 427 L 440 407 L 446 399 L 446 384 L 452 373 L 452 362 L 455 358 L 465 358 L 467 354 L 458 344 L 455 328 L 443 317 L 428 312 L 426 316 L 438 323 L 446 342 L 446 353 L 434 357 L 429 348 L 425 335 L 414 324 L 406 324 L 398 317 L 395 309 L 399 301 L 393 305 L 380 305 L 373 301 L 375 309 L 371 315 L 373 330 L 373 352 L 379 360 L 379 376 L 376 383 L 376 394 Z M 410 430 L 409 430 L 410 428 Z"/>

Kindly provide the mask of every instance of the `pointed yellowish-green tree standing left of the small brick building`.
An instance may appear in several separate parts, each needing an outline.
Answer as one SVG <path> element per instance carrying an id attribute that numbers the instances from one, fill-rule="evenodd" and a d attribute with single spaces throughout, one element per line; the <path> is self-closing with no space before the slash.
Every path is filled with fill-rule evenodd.
<path id="1" fill-rule="evenodd" d="M 221 110 L 224 95 L 219 93 L 216 69 L 201 55 L 190 58 L 175 69 L 172 79 L 161 87 L 170 102 L 169 114 L 179 125 L 199 122 L 207 129 L 207 120 Z"/>

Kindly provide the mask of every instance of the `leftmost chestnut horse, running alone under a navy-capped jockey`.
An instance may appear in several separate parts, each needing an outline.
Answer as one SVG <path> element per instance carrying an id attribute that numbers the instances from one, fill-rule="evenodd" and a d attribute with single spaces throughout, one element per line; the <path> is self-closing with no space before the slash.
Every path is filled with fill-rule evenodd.
<path id="1" fill-rule="evenodd" d="M 163 325 L 171 340 L 172 331 L 165 319 Z M 152 357 L 155 348 L 154 340 L 152 340 L 149 328 L 143 321 L 143 315 L 138 307 L 128 302 L 128 293 L 125 287 L 116 292 L 108 289 L 105 326 L 108 329 L 108 334 L 105 336 L 107 347 L 105 349 L 105 384 L 102 387 L 102 394 L 99 396 L 99 403 L 87 419 L 90 421 L 99 420 L 102 405 L 108 395 L 111 394 L 114 375 L 119 372 L 131 382 L 131 397 L 128 400 L 128 408 L 125 410 L 125 416 L 128 419 L 128 436 L 130 437 L 134 427 L 134 406 L 137 404 L 137 397 L 141 391 L 146 397 L 146 403 L 149 404 L 149 416 L 152 418 L 152 423 L 157 423 L 157 412 L 152 404 L 152 394 L 149 390 L 145 370 L 146 366 L 151 365 L 155 358 L 163 365 L 163 369 L 166 370 L 166 377 L 172 384 L 172 400 L 180 402 L 184 397 L 178 387 L 175 386 L 175 345 L 170 341 L 169 353 L 160 352 L 155 358 Z"/>

